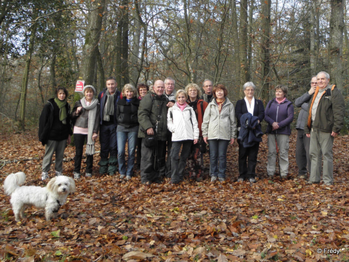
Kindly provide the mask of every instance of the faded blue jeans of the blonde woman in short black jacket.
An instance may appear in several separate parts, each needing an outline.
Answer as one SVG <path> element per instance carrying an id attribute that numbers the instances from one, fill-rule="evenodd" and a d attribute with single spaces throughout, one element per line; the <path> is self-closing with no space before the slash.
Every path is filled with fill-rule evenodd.
<path id="1" fill-rule="evenodd" d="M 137 132 L 117 132 L 116 139 L 118 141 L 118 163 L 119 173 L 121 175 L 132 176 L 133 167 L 135 165 L 135 151 L 137 146 Z M 128 140 L 129 158 L 127 160 L 127 172 L 125 161 L 125 145 Z"/>

